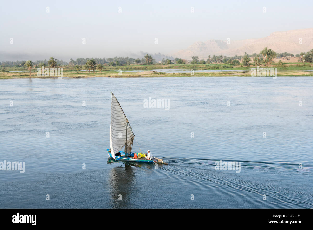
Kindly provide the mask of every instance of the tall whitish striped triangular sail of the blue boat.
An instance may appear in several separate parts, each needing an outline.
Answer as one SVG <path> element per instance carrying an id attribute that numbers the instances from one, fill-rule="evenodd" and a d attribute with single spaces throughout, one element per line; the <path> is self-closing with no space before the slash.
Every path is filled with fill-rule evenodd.
<path id="1" fill-rule="evenodd" d="M 121 105 L 113 93 L 111 95 L 111 99 L 110 148 L 111 155 L 115 159 L 115 154 L 119 152 L 125 144 L 126 153 L 131 152 L 134 135 Z"/>

